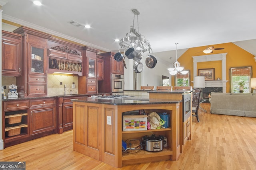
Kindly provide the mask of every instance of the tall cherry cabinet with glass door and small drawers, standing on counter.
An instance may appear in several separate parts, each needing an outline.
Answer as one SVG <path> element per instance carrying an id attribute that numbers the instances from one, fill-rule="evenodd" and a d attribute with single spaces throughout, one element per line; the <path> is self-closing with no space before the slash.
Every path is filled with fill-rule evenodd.
<path id="1" fill-rule="evenodd" d="M 16 78 L 18 91 L 24 97 L 47 96 L 47 39 L 51 35 L 24 26 L 13 32 L 23 36 L 22 63 L 27 66 L 22 76 Z M 38 82 L 31 79 L 31 76 L 37 76 Z"/>

